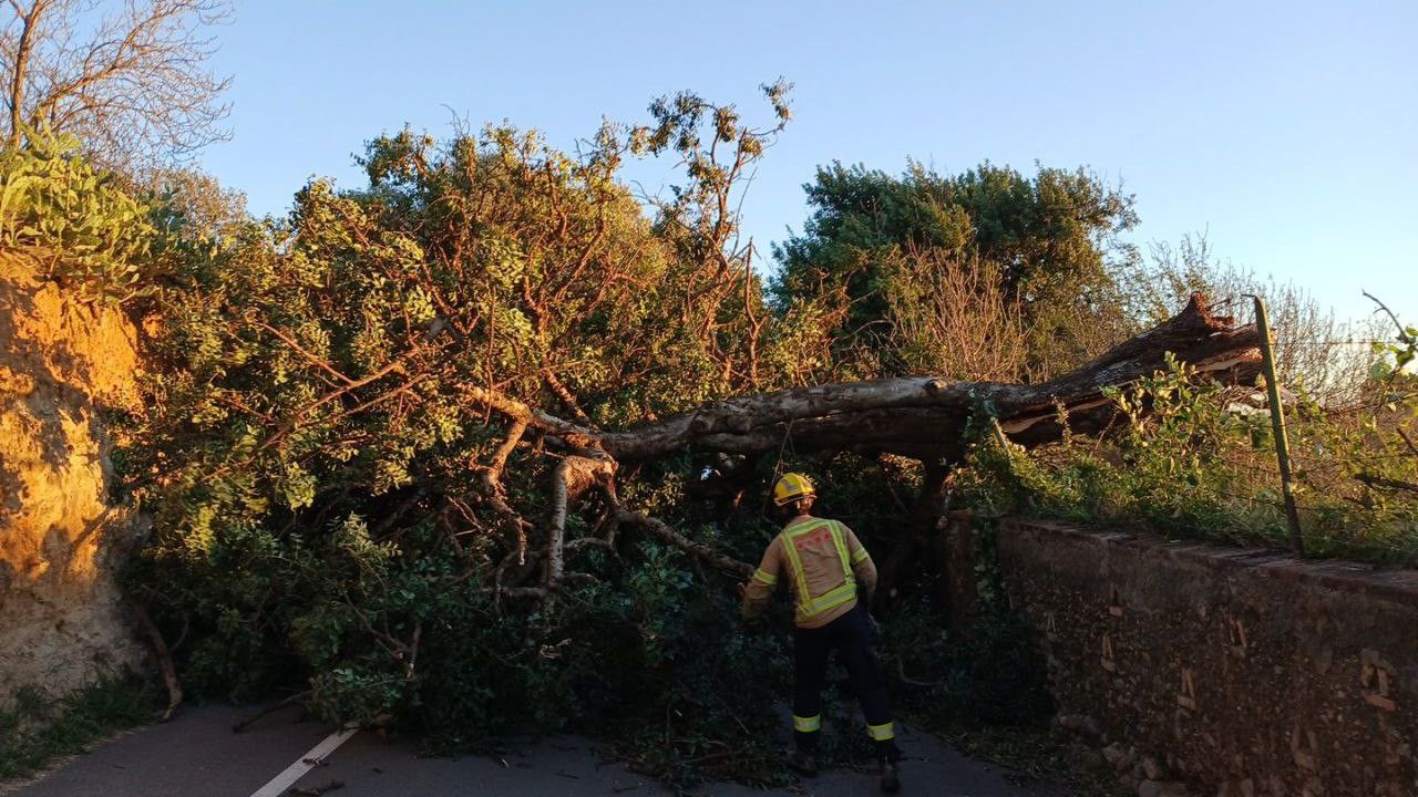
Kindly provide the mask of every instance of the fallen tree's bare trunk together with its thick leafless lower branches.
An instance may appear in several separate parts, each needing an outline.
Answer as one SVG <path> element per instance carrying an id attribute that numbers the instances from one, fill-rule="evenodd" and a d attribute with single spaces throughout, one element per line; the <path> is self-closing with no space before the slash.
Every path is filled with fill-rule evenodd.
<path id="1" fill-rule="evenodd" d="M 1198 377 L 1219 381 L 1254 379 L 1259 367 L 1256 335 L 1251 325 L 1235 326 L 1229 318 L 1212 316 L 1204 298 L 1193 296 L 1174 318 L 1041 384 L 913 377 L 801 387 L 716 401 L 623 431 L 581 425 L 508 396 L 472 389 L 468 391 L 471 400 L 509 418 L 513 431 L 509 444 L 515 445 L 525 430 L 535 428 L 546 435 L 552 450 L 571 452 L 552 472 L 553 511 L 540 553 L 546 562 L 542 583 L 536 587 L 508 587 L 499 574 L 498 589 L 515 596 L 547 597 L 567 577 L 564 556 L 569 546 L 613 546 L 611 535 L 623 523 L 645 528 L 719 570 L 750 574 L 753 569 L 749 564 L 625 509 L 615 498 L 614 474 L 623 464 L 678 451 L 760 455 L 791 447 L 798 454 L 854 451 L 920 459 L 927 468 L 913 512 L 915 529 L 905 536 L 909 553 L 919 532 L 939 515 L 942 485 L 949 467 L 964 455 L 964 433 L 971 418 L 993 417 L 1004 435 L 1024 447 L 1056 441 L 1064 423 L 1075 433 L 1098 433 L 1112 424 L 1119 411 L 1105 391 L 1163 369 L 1168 355 L 1188 363 Z M 501 501 L 496 469 L 484 474 L 484 495 Z M 600 523 L 607 536 L 567 542 L 567 506 L 593 485 L 600 488 L 608 506 L 607 519 Z M 932 512 L 932 506 L 937 511 Z M 525 549 L 519 553 L 525 560 Z M 905 557 L 906 553 L 896 552 L 892 560 Z M 891 583 L 895 567 L 888 563 L 886 572 L 886 581 Z"/>

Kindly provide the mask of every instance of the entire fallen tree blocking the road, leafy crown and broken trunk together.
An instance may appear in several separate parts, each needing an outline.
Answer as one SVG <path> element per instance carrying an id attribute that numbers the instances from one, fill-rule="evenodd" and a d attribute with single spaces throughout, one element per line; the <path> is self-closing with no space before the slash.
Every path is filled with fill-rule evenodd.
<path id="1" fill-rule="evenodd" d="M 130 583 L 186 693 L 291 688 L 459 739 L 584 722 L 657 770 L 774 771 L 788 659 L 740 634 L 726 587 L 777 526 L 742 496 L 780 465 L 813 469 L 828 512 L 856 491 L 891 583 L 981 430 L 1103 430 L 1105 391 L 1168 353 L 1251 367 L 1255 332 L 1197 299 L 1046 381 L 828 383 L 902 369 L 844 366 L 835 294 L 770 302 L 736 243 L 733 174 L 771 129 L 662 109 L 631 138 L 695 182 L 654 220 L 615 130 L 577 159 L 509 129 L 406 133 L 372 143 L 369 191 L 315 182 L 288 223 L 163 250 L 183 260 L 135 308 L 146 403 L 115 462 L 153 515 Z"/>

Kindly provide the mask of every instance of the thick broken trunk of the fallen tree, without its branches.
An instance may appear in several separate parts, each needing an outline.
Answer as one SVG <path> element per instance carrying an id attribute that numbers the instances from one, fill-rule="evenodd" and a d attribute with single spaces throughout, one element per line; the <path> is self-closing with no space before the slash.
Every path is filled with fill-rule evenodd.
<path id="1" fill-rule="evenodd" d="M 1099 431 L 1115 416 L 1103 389 L 1157 372 L 1168 352 L 1198 374 L 1232 381 L 1255 376 L 1258 346 L 1254 326 L 1232 326 L 1193 296 L 1170 321 L 1039 384 L 879 379 L 730 398 L 625 431 L 576 431 L 623 462 L 685 450 L 759 454 L 784 442 L 800 454 L 886 452 L 950 462 L 963 455 L 961 431 L 976 413 L 993 414 L 1025 447 L 1058 440 L 1061 408 L 1075 431 Z"/>

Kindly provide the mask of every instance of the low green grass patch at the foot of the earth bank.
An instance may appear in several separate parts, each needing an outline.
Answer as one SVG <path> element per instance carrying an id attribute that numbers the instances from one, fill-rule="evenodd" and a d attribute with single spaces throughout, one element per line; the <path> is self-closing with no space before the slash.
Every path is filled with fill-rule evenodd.
<path id="1" fill-rule="evenodd" d="M 23 777 L 58 756 L 152 719 L 155 695 L 138 678 L 101 681 L 55 699 L 20 691 L 0 709 L 0 780 Z"/>

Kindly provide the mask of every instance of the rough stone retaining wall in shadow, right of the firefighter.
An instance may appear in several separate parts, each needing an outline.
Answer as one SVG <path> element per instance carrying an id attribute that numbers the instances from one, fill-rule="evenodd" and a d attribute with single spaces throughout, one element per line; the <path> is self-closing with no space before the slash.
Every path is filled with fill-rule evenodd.
<path id="1" fill-rule="evenodd" d="M 1418 572 L 1029 520 L 998 550 L 1059 713 L 1136 746 L 1147 777 L 1418 797 Z"/>

